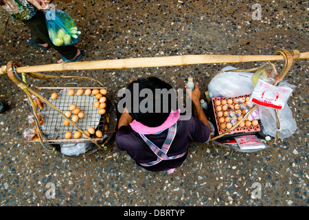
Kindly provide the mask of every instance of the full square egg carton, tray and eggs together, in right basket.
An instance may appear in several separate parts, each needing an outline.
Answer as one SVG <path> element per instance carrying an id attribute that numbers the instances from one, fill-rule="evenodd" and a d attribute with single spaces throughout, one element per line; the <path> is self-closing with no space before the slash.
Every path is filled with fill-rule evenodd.
<path id="1" fill-rule="evenodd" d="M 250 98 L 250 94 L 249 95 L 244 95 L 244 96 L 236 96 L 236 97 L 231 97 L 231 98 L 226 98 L 226 97 L 216 97 L 216 98 L 211 98 L 211 104 L 214 110 L 214 118 L 215 118 L 215 123 L 216 123 L 216 128 L 218 131 L 218 134 L 222 134 L 225 133 L 230 127 L 229 126 L 233 126 L 233 124 L 236 124 L 237 122 L 239 122 L 239 120 L 241 120 L 241 118 L 244 117 L 245 112 L 242 110 L 249 110 L 253 105 L 251 105 L 251 103 L 247 103 L 247 101 Z M 232 100 L 232 103 L 231 101 Z M 237 102 L 238 100 L 238 102 Z M 222 104 L 223 101 L 223 104 Z M 220 102 L 220 104 L 218 104 Z M 225 104 L 225 102 L 229 102 L 227 104 Z M 240 102 L 240 103 L 239 103 Z M 238 105 L 237 105 L 238 104 Z M 246 105 L 246 109 L 242 109 L 240 110 L 240 105 L 244 104 Z M 249 106 L 248 106 L 249 104 Z M 231 121 L 229 121 L 227 119 L 227 117 L 229 117 L 229 119 L 231 120 L 230 115 L 227 115 L 227 113 L 225 113 L 225 111 L 227 111 L 228 113 L 234 112 L 236 113 L 237 110 L 238 111 L 238 116 L 235 116 L 237 118 L 236 122 L 233 124 L 229 124 L 229 126 L 227 126 L 227 123 L 231 123 Z M 218 112 L 222 112 L 222 117 L 218 116 Z M 224 122 L 219 122 L 220 118 L 224 118 L 225 121 Z M 222 120 L 222 119 L 220 119 Z M 233 120 L 235 120 L 235 118 L 233 118 Z M 253 122 L 253 121 L 252 121 Z M 243 134 L 243 133 L 256 133 L 258 131 L 260 131 L 260 124 L 258 122 L 258 120 L 254 120 L 255 125 L 252 124 L 251 121 L 249 120 L 245 120 L 244 124 L 240 124 L 239 126 L 236 127 L 236 129 L 233 129 L 232 131 L 229 131 L 228 133 L 226 133 L 227 135 L 233 135 L 233 134 Z M 220 125 L 224 123 L 225 124 L 225 128 L 223 128 L 224 126 L 220 127 Z M 247 123 L 247 125 L 246 125 Z"/>

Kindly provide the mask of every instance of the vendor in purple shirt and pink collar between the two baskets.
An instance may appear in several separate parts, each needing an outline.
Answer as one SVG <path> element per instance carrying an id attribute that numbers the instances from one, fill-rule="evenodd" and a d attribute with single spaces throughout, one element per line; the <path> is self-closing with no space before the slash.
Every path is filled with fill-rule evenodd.
<path id="1" fill-rule="evenodd" d="M 196 118 L 190 115 L 185 120 L 181 120 L 180 109 L 173 109 L 169 92 L 157 96 L 156 91 L 171 89 L 171 85 L 153 76 L 137 78 L 129 83 L 120 100 L 130 102 L 122 102 L 125 109 L 119 118 L 116 148 L 126 151 L 138 166 L 152 172 L 172 173 L 185 161 L 190 142 L 209 142 L 210 126 L 201 108 L 198 85 L 193 91 L 186 88 Z"/>

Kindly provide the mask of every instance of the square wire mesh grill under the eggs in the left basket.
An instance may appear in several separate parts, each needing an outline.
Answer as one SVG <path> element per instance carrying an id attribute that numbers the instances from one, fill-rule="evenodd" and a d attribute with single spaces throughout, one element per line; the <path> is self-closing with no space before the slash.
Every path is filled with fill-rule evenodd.
<path id="1" fill-rule="evenodd" d="M 77 96 L 76 92 L 73 96 L 69 96 L 69 89 L 74 89 L 75 91 L 77 91 L 78 89 L 80 89 L 80 87 L 67 87 L 61 89 L 57 92 L 58 98 L 56 98 L 56 100 L 52 100 L 52 98 L 49 98 L 49 102 L 54 104 L 54 106 L 62 113 L 69 111 L 69 107 L 71 104 L 76 104 L 76 107 L 80 108 L 80 111 L 84 113 L 84 118 L 79 118 L 78 122 L 76 122 L 80 129 L 82 129 L 83 131 L 87 131 L 89 126 L 92 126 L 94 129 L 98 129 L 100 120 L 102 120 L 101 118 L 103 117 L 98 113 L 98 109 L 93 106 L 93 103 L 97 101 L 95 96 L 93 96 L 93 94 L 89 96 L 86 96 L 84 94 L 82 94 L 81 96 Z M 72 117 L 73 111 L 71 112 Z M 65 126 L 65 124 L 63 123 L 65 118 L 63 118 L 62 115 L 58 113 L 58 111 L 50 107 L 48 104 L 45 104 L 45 109 L 41 110 L 41 114 L 44 118 L 44 124 L 41 126 L 41 131 L 44 133 L 47 140 L 66 140 L 65 133 L 67 131 L 71 131 L 72 133 L 78 131 L 72 124 Z M 73 139 L 73 135 L 71 139 Z M 78 141 L 78 139 L 75 140 Z"/>

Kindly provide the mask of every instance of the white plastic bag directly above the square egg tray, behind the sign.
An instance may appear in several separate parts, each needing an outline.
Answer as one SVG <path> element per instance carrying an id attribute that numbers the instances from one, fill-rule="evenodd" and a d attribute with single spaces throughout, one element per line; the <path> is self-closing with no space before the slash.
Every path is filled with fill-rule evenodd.
<path id="1" fill-rule="evenodd" d="M 209 97 L 236 97 L 251 94 L 253 91 L 250 72 L 228 72 L 235 67 L 225 67 L 211 79 L 208 85 Z"/>

